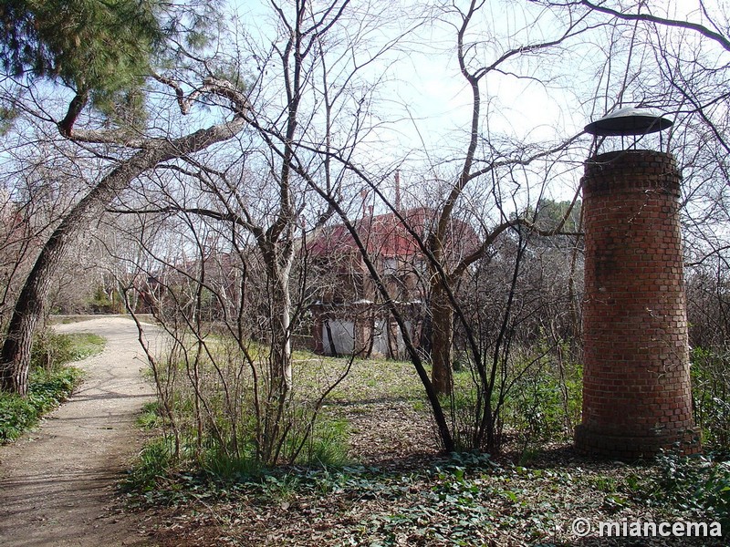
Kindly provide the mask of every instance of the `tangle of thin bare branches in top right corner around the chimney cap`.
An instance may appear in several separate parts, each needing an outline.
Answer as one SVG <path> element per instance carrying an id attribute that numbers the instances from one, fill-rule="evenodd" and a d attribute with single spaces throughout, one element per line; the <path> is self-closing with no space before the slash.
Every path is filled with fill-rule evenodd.
<path id="1" fill-rule="evenodd" d="M 683 172 L 683 229 L 689 263 L 725 253 L 728 199 L 725 157 L 730 120 L 728 28 L 714 1 L 613 3 L 535 0 L 562 16 L 589 17 L 609 32 L 609 46 L 592 46 L 599 92 L 586 97 L 595 114 L 621 105 L 654 108 L 673 118 L 662 140 L 639 139 L 673 153 Z M 610 143 L 599 143 L 604 148 Z M 615 145 L 614 145 L 615 146 Z"/>

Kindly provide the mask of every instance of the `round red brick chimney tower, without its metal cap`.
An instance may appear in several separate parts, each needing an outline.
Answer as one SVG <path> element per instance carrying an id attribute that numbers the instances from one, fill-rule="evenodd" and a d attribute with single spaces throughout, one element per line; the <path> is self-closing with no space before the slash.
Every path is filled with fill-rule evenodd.
<path id="1" fill-rule="evenodd" d="M 692 415 L 681 175 L 673 157 L 622 150 L 583 177 L 583 418 L 576 449 L 616 459 L 700 449 Z"/>

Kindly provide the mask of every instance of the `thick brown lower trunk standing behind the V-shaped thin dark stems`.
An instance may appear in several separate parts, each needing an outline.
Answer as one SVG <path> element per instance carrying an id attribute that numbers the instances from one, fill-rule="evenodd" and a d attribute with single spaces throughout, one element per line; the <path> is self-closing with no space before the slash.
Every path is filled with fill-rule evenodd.
<path id="1" fill-rule="evenodd" d="M 438 282 L 432 286 L 429 311 L 432 322 L 431 381 L 435 392 L 443 395 L 451 393 L 454 389 L 451 363 L 454 345 L 454 308 Z"/>

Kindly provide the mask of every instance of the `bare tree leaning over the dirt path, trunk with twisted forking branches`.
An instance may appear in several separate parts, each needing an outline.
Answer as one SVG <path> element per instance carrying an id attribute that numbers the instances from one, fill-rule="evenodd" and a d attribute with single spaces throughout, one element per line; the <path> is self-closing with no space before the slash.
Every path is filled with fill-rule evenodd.
<path id="1" fill-rule="evenodd" d="M 232 118 L 206 129 L 170 137 L 155 131 L 154 127 L 148 128 L 146 132 L 123 124 L 117 129 L 95 129 L 93 120 L 89 120 L 90 129 L 76 129 L 75 124 L 68 124 L 68 113 L 72 110 L 75 112 L 78 106 L 73 100 L 64 115 L 66 123 L 47 115 L 43 104 L 25 105 L 26 116 L 62 127 L 61 136 L 64 139 L 79 147 L 97 147 L 97 153 L 106 161 L 91 190 L 64 215 L 43 244 L 17 297 L 0 359 L 0 387 L 6 391 L 26 393 L 33 333 L 39 318 L 44 314 L 52 276 L 67 253 L 68 246 L 76 241 L 78 234 L 86 230 L 89 222 L 98 218 L 106 205 L 144 171 L 231 139 L 245 127 L 243 115 L 248 106 L 247 99 L 244 92 L 229 82 L 216 79 L 213 75 L 203 77 L 202 83 L 185 97 L 183 88 L 172 79 L 157 79 L 166 88 L 172 89 L 183 114 L 190 111 L 193 101 L 216 97 L 224 99 L 224 108 L 227 108 L 226 103 L 232 106 L 228 109 L 233 112 Z"/>

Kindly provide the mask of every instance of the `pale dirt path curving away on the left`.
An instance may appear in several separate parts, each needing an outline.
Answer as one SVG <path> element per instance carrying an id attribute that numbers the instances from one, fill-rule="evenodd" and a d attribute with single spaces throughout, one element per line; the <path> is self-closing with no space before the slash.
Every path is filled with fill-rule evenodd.
<path id="1" fill-rule="evenodd" d="M 141 447 L 134 420 L 153 389 L 129 319 L 58 325 L 92 332 L 104 352 L 78 363 L 85 382 L 41 428 L 0 447 L 0 545 L 152 545 L 141 518 L 120 514 L 115 482 Z"/>

